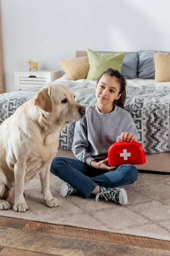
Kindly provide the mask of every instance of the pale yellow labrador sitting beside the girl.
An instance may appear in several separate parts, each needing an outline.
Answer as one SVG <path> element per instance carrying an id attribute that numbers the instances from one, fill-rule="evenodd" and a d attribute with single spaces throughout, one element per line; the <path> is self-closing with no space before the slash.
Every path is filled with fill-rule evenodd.
<path id="1" fill-rule="evenodd" d="M 51 161 L 57 154 L 59 131 L 85 116 L 66 84 L 48 84 L 0 125 L 0 209 L 13 189 L 13 209 L 25 212 L 24 183 L 40 174 L 45 204 L 59 206 L 49 186 Z"/>

